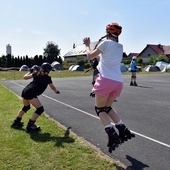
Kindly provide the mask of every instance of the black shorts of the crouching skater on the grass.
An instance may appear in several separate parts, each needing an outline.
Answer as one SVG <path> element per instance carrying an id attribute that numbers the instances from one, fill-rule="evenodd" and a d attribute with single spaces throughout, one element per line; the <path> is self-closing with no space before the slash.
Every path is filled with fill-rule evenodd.
<path id="1" fill-rule="evenodd" d="M 37 98 L 37 93 L 33 89 L 25 87 L 21 96 L 26 100 L 31 100 L 33 98 Z"/>

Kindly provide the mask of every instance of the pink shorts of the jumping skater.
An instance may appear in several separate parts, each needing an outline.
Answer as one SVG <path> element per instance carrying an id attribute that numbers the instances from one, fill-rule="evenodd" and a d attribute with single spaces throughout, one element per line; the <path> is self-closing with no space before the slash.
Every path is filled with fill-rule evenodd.
<path id="1" fill-rule="evenodd" d="M 116 98 L 120 96 L 122 89 L 123 82 L 104 78 L 98 74 L 92 91 L 101 96 Z"/>

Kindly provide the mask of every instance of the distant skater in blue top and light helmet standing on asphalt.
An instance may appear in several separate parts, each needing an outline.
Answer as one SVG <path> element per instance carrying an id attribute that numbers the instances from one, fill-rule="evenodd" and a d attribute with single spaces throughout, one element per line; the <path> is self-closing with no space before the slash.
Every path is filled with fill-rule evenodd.
<path id="1" fill-rule="evenodd" d="M 132 60 L 130 62 L 130 67 L 129 67 L 129 71 L 131 71 L 131 82 L 130 82 L 130 86 L 138 86 L 136 83 L 136 72 L 137 72 L 137 63 L 136 63 L 136 57 L 133 56 Z"/>

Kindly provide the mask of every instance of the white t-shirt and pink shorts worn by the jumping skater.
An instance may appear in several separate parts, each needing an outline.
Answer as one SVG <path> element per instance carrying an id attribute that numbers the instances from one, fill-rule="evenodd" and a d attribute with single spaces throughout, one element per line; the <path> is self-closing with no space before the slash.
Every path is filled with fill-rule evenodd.
<path id="1" fill-rule="evenodd" d="M 123 77 L 120 64 L 123 58 L 123 46 L 112 40 L 104 40 L 97 49 L 101 57 L 97 69 L 99 75 L 92 91 L 106 97 L 118 97 L 123 88 Z"/>

